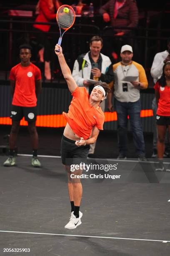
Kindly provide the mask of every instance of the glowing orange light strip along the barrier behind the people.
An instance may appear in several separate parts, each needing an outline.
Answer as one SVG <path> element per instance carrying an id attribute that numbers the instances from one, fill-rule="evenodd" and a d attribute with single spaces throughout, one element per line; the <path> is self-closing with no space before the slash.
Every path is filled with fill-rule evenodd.
<path id="1" fill-rule="evenodd" d="M 150 116 L 153 116 L 152 109 L 140 111 L 140 117 L 145 118 L 145 117 L 150 117 Z M 105 122 L 116 121 L 116 120 L 117 120 L 116 111 L 105 112 Z M 67 122 L 62 114 L 60 114 L 60 115 L 37 115 L 36 126 L 57 128 L 57 127 L 65 127 L 66 123 Z M 0 125 L 1 124 L 2 125 L 11 125 L 12 124 L 11 118 L 0 117 Z M 20 125 L 24 125 L 24 126 L 27 125 L 27 122 L 24 120 L 24 118 L 21 120 Z"/>

